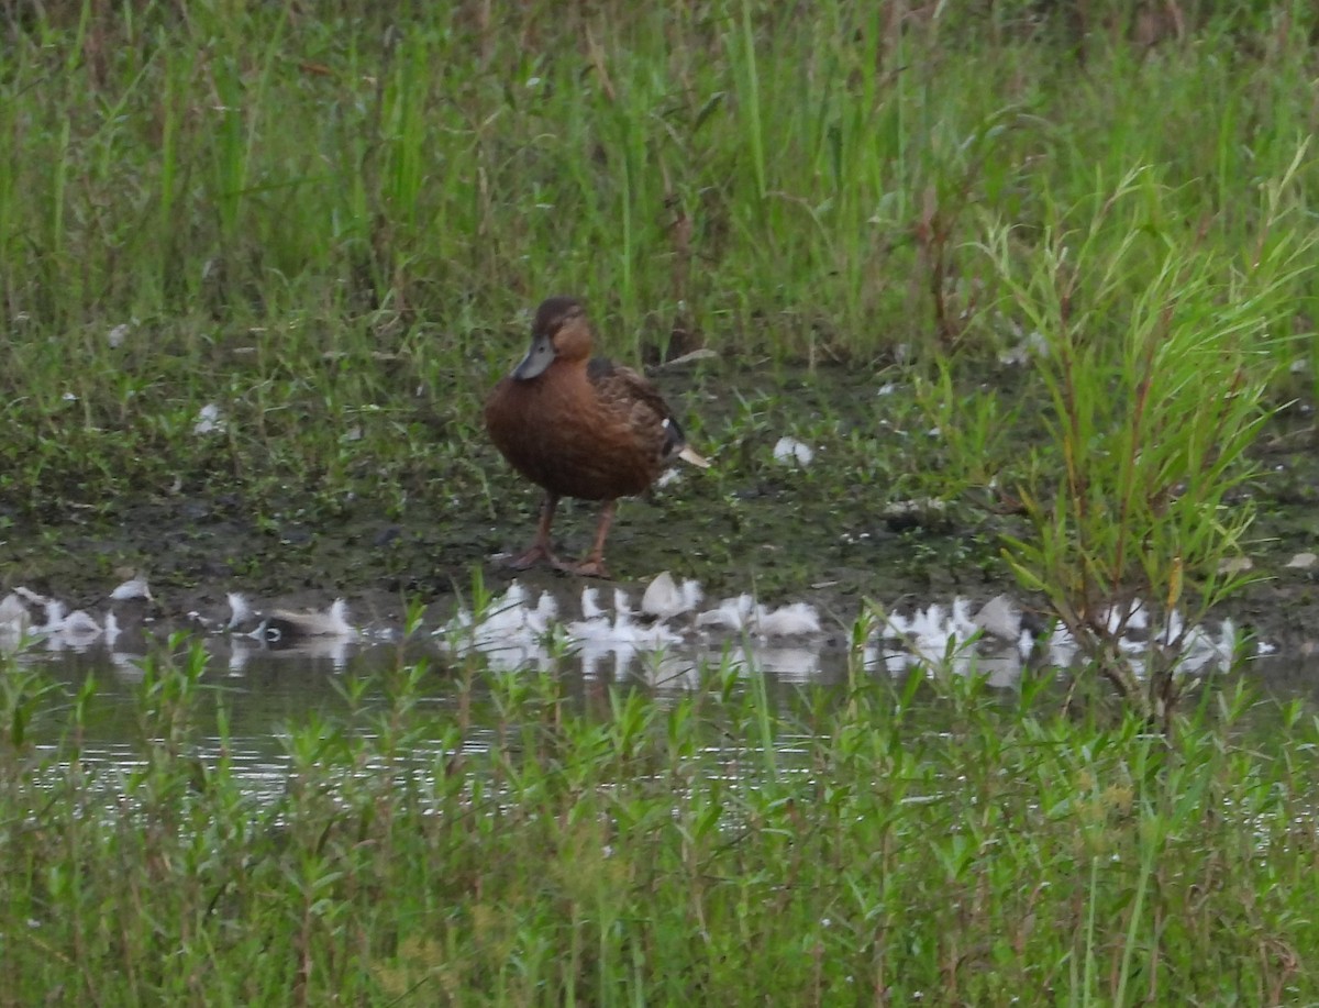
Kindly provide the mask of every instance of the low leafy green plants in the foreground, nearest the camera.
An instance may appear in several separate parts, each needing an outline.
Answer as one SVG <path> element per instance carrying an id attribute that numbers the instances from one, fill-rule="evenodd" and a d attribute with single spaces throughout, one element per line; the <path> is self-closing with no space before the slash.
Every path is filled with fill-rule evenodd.
<path id="1" fill-rule="evenodd" d="M 203 664 L 148 672 L 125 778 L 78 760 L 88 694 L 0 677 L 12 1001 L 1319 997 L 1299 706 L 1228 695 L 1171 755 L 1041 682 L 774 705 L 712 669 L 583 710 L 566 678 L 400 668 L 297 716 L 257 802 Z"/>

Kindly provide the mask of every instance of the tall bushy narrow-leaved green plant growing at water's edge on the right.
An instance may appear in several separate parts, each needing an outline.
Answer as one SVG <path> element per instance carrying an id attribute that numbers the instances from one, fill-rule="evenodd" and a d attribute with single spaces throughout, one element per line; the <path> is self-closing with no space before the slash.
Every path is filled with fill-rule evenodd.
<path id="1" fill-rule="evenodd" d="M 1188 636 L 1252 577 L 1249 455 L 1270 414 L 1269 388 L 1302 311 L 1298 280 L 1315 239 L 1291 191 L 1306 160 L 1260 186 L 1245 248 L 1187 237 L 1163 212 L 1166 186 L 1128 173 L 1103 202 L 1059 208 L 1045 260 L 1021 269 L 1014 228 L 987 255 L 1009 311 L 1037 336 L 1049 391 L 1042 449 L 1022 483 L 1030 536 L 1010 538 L 1018 578 L 1122 697 L 1165 727 Z M 1059 475 L 1060 470 L 1060 475 Z M 1132 629 L 1154 646 L 1133 662 Z"/>

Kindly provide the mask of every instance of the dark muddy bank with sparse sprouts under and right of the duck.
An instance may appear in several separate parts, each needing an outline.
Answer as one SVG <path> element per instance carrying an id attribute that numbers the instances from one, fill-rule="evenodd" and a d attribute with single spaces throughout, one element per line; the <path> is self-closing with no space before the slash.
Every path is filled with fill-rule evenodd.
<path id="1" fill-rule="evenodd" d="M 762 377 L 743 381 L 736 397 L 727 381 L 719 372 L 661 376 L 666 394 L 698 418 L 694 439 L 714 449 L 716 468 L 623 503 L 607 551 L 620 584 L 637 591 L 669 570 L 699 581 L 711 599 L 809 602 L 840 633 L 865 599 L 901 608 L 1006 591 L 1026 608 L 1038 604 L 1016 590 L 1001 557 L 1004 534 L 1029 534 L 1002 496 L 972 488 L 938 508 L 905 507 L 939 486 L 939 446 L 917 429 L 901 389 L 877 394 L 884 373 Z M 1020 384 L 1016 372 L 996 383 L 1009 393 Z M 809 466 L 776 460 L 785 434 L 813 447 Z M 1301 412 L 1261 438 L 1266 472 L 1250 489 L 1258 521 L 1248 559 L 1265 579 L 1217 614 L 1299 656 L 1319 640 L 1319 563 L 1287 566 L 1319 551 L 1314 441 Z M 470 596 L 475 571 L 501 591 L 512 574 L 492 557 L 525 546 L 534 529 L 538 492 L 484 443 L 472 446 L 472 460 L 487 474 L 483 492 L 433 480 L 397 516 L 365 496 L 347 497 L 335 515 L 307 513 L 291 492 L 286 507 L 260 515 L 239 492 L 108 501 L 54 522 L 9 509 L 4 587 L 92 608 L 119 579 L 141 574 L 160 625 L 190 614 L 226 617 L 232 591 L 294 608 L 344 598 L 365 625 L 401 625 L 408 606 L 421 603 L 434 625 Z M 595 519 L 595 505 L 565 501 L 555 525 L 565 553 L 586 551 Z M 521 579 L 566 607 L 584 583 L 549 570 Z"/>

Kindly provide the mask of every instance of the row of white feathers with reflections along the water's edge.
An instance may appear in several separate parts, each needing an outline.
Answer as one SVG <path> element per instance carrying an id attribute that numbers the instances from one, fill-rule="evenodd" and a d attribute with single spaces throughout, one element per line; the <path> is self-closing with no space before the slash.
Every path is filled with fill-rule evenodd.
<path id="1" fill-rule="evenodd" d="M 145 582 L 127 582 L 117 604 L 149 602 Z M 208 682 L 224 697 L 232 731 L 265 753 L 290 720 L 309 711 L 340 710 L 344 676 L 369 678 L 427 661 L 435 674 L 429 702 L 447 703 L 446 676 L 455 666 L 561 676 L 583 694 L 604 683 L 649 689 L 699 689 L 710 669 L 762 673 L 768 686 L 836 683 L 851 674 L 905 678 L 913 672 L 984 676 L 991 686 L 1013 687 L 1028 665 L 1066 666 L 1075 645 L 1053 627 L 1031 624 L 1020 606 L 997 596 L 983 606 L 955 599 L 948 606 L 906 607 L 863 614 L 851 627 L 823 625 L 806 603 L 765 607 L 749 595 L 704 603 L 695 582 L 656 578 L 633 603 L 627 591 L 607 598 L 595 587 L 576 596 L 534 591 L 517 582 L 474 610 L 459 610 L 441 625 L 404 640 L 400 627 L 356 627 L 343 602 L 323 611 L 261 611 L 231 596 L 224 616 L 198 616 L 191 636 L 170 643 L 171 628 L 138 614 L 120 623 L 111 610 L 88 620 L 70 619 L 57 600 L 16 590 L 0 600 L 0 646 L 16 666 L 41 665 L 79 685 L 96 677 L 107 709 L 107 740 L 123 736 L 113 709 L 142 681 L 148 656 L 168 656 L 202 640 Z M 3 619 L 8 614 L 11 621 Z M 1183 668 L 1202 673 L 1228 668 L 1240 649 L 1231 621 L 1187 627 L 1177 614 L 1162 623 L 1140 606 L 1107 614 L 1121 650 L 1140 669 L 1151 648 L 1179 640 Z M 429 632 L 427 632 L 429 629 Z M 475 662 L 475 665 L 474 665 Z M 1262 670 L 1264 666 L 1257 666 Z M 1279 668 L 1277 664 L 1273 668 Z M 1294 682 L 1294 679 L 1289 679 Z"/>

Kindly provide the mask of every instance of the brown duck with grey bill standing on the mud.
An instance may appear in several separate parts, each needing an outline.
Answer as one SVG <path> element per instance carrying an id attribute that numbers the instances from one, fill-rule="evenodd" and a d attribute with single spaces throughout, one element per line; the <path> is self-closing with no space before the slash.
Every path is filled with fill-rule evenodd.
<path id="1" fill-rule="evenodd" d="M 549 298 L 536 311 L 532 348 L 485 401 L 485 429 L 495 447 L 545 489 L 536 542 L 510 566 L 543 559 L 608 577 L 604 540 L 617 499 L 641 493 L 679 458 L 710 464 L 687 446 L 649 381 L 630 368 L 590 358 L 591 326 L 582 303 Z M 595 546 L 580 563 L 559 561 L 550 546 L 559 497 L 605 501 Z"/>

